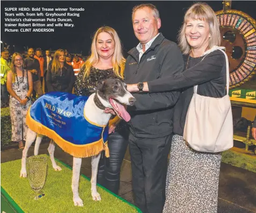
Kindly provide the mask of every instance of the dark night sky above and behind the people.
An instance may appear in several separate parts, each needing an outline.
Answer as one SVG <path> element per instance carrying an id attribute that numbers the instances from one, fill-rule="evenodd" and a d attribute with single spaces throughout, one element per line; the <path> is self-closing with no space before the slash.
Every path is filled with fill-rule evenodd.
<path id="1" fill-rule="evenodd" d="M 202 1 L 208 3 L 214 11 L 222 10 L 222 1 Z M 1 41 L 15 45 L 16 51 L 24 51 L 24 46 L 40 47 L 43 50 L 52 48 L 67 49 L 70 53 L 81 53 L 89 55 L 93 33 L 100 26 L 111 26 L 119 34 L 123 44 L 123 52 L 135 47 L 138 43 L 131 24 L 131 9 L 137 4 L 152 3 L 157 6 L 162 20 L 160 32 L 172 41 L 176 42 L 176 36 L 187 8 L 193 1 L 1 1 Z M 80 8 L 85 11 L 80 17 L 59 17 L 72 18 L 75 27 L 56 28 L 55 32 L 4 32 L 5 7 L 45 7 L 45 8 Z M 231 9 L 240 10 L 256 19 L 256 1 L 232 1 Z M 19 12 L 19 11 L 17 11 Z M 22 12 L 22 11 L 20 11 Z M 30 11 L 32 12 L 32 11 Z M 35 11 L 36 12 L 36 11 Z M 42 11 L 40 11 L 42 12 Z M 56 11 L 54 11 L 56 12 Z M 67 11 L 69 12 L 69 11 Z M 11 13 L 9 11 L 9 13 Z M 15 12 L 14 12 L 15 13 Z M 63 11 L 61 12 L 63 13 Z M 72 12 L 71 12 L 72 13 Z M 19 17 L 17 17 L 19 18 Z M 20 17 L 25 18 L 25 17 Z M 30 17 L 40 18 L 40 17 Z M 52 18 L 52 17 L 41 17 Z M 53 17 L 58 18 L 58 17 Z M 14 22 L 16 23 L 16 22 Z M 27 22 L 28 23 L 28 22 Z M 43 23 L 43 22 L 41 22 Z M 57 22 L 55 22 L 57 23 Z M 15 27 L 12 27 L 15 28 Z M 30 27 L 28 27 L 30 28 Z M 40 28 L 40 27 L 36 27 Z"/>

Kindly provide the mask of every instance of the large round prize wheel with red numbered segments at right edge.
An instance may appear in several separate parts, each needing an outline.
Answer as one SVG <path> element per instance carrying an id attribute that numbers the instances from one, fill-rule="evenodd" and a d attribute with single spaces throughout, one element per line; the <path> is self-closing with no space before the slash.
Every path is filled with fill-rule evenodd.
<path id="1" fill-rule="evenodd" d="M 229 58 L 230 88 L 249 80 L 256 69 L 256 22 L 238 10 L 215 12 L 220 23 L 221 46 Z"/>

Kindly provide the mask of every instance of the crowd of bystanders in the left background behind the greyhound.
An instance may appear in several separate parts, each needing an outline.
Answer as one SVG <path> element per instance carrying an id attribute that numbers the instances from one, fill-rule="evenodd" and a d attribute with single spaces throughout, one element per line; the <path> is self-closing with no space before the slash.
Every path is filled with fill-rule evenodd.
<path id="1" fill-rule="evenodd" d="M 52 56 L 47 49 L 43 56 L 41 48 L 28 48 L 26 54 L 14 52 L 11 57 L 8 49 L 1 51 L 1 108 L 10 107 L 12 141 L 18 142 L 19 149 L 26 140 L 29 106 L 47 92 L 72 93 L 75 75 L 83 63 L 81 57 L 72 57 L 67 50 L 57 50 Z"/>

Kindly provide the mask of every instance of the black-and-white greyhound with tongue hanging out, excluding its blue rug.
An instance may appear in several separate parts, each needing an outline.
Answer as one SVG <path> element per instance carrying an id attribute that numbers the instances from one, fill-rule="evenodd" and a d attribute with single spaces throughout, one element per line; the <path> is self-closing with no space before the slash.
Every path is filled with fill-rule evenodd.
<path id="1" fill-rule="evenodd" d="M 90 95 L 84 105 L 85 117 L 87 117 L 94 124 L 107 125 L 109 119 L 111 118 L 111 113 L 105 113 L 104 109 L 100 109 L 95 103 L 94 96 L 98 97 L 98 101 L 100 101 L 105 108 L 113 109 L 116 115 L 118 115 L 120 118 L 126 121 L 130 120 L 130 116 L 122 104 L 133 105 L 136 99 L 133 97 L 133 95 L 131 95 L 127 91 L 126 84 L 123 83 L 121 80 L 112 78 L 112 79 L 107 79 L 106 81 L 100 83 L 97 86 L 96 93 L 93 93 L 92 95 Z M 36 103 L 37 102 L 35 102 L 34 104 Z M 37 138 L 36 138 L 36 135 L 37 135 Z M 27 140 L 26 140 L 25 148 L 23 150 L 23 156 L 21 159 L 20 177 L 24 177 L 24 178 L 27 177 L 27 171 L 26 171 L 27 151 L 30 148 L 33 141 L 35 140 L 35 138 L 36 138 L 36 141 L 35 141 L 34 155 L 38 155 L 38 150 L 39 150 L 40 142 L 42 140 L 42 135 L 37 134 L 36 132 L 33 132 L 30 128 L 28 128 Z M 55 149 L 55 142 L 51 140 L 48 147 L 49 156 L 52 161 L 54 170 L 60 171 L 61 170 L 60 166 L 58 166 L 54 160 L 54 149 Z M 100 195 L 97 192 L 97 188 L 96 188 L 100 154 L 101 154 L 101 151 L 97 155 L 92 156 L 91 158 L 91 164 L 92 164 L 91 194 L 92 194 L 92 199 L 94 201 L 101 200 Z M 81 163 L 82 163 L 82 158 L 73 156 L 72 192 L 73 192 L 73 201 L 75 206 L 83 206 L 83 201 L 78 194 Z"/>

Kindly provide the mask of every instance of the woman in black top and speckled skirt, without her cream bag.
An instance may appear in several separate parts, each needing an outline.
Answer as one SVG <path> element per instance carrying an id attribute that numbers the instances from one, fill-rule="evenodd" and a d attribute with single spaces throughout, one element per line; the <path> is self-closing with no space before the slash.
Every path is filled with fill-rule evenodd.
<path id="1" fill-rule="evenodd" d="M 187 146 L 182 135 L 194 85 L 199 85 L 199 95 L 225 96 L 225 55 L 216 48 L 220 42 L 218 21 L 211 7 L 205 3 L 192 5 L 185 14 L 179 33 L 185 71 L 172 77 L 144 82 L 145 92 L 157 93 L 174 89 L 180 89 L 181 92 L 174 106 L 175 134 L 163 212 L 217 212 L 221 153 L 195 151 Z M 203 59 L 205 55 L 207 56 Z M 128 90 L 138 91 L 137 85 L 128 85 Z"/>

